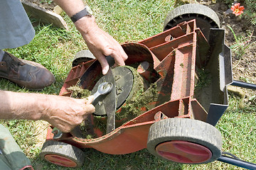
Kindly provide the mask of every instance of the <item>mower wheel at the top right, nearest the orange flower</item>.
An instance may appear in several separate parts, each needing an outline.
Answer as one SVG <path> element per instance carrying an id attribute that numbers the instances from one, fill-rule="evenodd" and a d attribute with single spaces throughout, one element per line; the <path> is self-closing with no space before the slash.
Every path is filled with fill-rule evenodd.
<path id="1" fill-rule="evenodd" d="M 211 8 L 201 4 L 185 4 L 174 8 L 164 21 L 164 30 L 173 28 L 183 21 L 196 19 L 196 26 L 208 39 L 210 28 L 220 28 L 220 20 Z"/>

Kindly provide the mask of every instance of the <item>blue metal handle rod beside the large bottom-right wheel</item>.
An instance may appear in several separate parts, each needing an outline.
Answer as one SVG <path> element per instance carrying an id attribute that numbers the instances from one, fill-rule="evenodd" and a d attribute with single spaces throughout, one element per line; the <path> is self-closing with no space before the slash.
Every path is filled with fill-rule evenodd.
<path id="1" fill-rule="evenodd" d="M 256 164 L 253 164 L 251 162 L 245 162 L 240 159 L 235 159 L 233 157 L 227 157 L 224 155 L 220 156 L 218 161 L 233 164 L 235 166 L 239 166 L 245 169 L 256 169 Z"/>

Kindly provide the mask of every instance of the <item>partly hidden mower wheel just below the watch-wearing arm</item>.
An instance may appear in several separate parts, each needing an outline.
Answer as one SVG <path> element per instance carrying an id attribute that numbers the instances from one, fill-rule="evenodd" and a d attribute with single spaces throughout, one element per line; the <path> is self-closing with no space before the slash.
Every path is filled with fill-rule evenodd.
<path id="1" fill-rule="evenodd" d="M 72 67 L 75 67 L 82 62 L 89 62 L 90 60 L 94 60 L 94 59 L 95 57 L 94 55 L 92 55 L 92 52 L 90 52 L 90 50 L 79 51 L 75 54 Z"/>

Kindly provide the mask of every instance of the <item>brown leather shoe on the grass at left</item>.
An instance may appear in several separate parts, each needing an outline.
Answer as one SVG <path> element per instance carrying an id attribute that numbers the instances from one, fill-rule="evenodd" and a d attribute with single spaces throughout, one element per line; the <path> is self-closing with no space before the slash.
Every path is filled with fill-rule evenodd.
<path id="1" fill-rule="evenodd" d="M 42 90 L 55 81 L 55 77 L 46 67 L 36 62 L 20 60 L 8 52 L 4 53 L 0 62 L 0 77 L 31 90 Z"/>

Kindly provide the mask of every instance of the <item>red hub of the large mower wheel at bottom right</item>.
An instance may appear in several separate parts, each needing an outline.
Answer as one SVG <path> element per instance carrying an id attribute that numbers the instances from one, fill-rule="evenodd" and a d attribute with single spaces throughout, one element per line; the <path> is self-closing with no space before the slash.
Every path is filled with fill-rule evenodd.
<path id="1" fill-rule="evenodd" d="M 210 149 L 193 142 L 174 140 L 156 147 L 156 153 L 165 159 L 183 164 L 198 164 L 212 157 Z"/>

